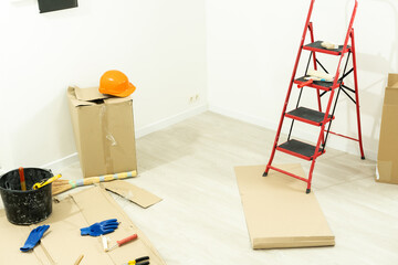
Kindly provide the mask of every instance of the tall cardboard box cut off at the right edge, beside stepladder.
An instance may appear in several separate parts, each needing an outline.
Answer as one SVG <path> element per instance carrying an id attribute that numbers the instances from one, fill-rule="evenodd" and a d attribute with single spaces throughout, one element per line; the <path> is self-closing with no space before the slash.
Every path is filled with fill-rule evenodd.
<path id="1" fill-rule="evenodd" d="M 398 184 L 398 74 L 388 75 L 383 105 L 376 180 Z"/>

